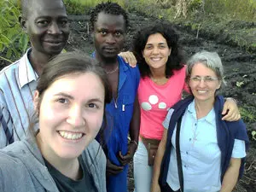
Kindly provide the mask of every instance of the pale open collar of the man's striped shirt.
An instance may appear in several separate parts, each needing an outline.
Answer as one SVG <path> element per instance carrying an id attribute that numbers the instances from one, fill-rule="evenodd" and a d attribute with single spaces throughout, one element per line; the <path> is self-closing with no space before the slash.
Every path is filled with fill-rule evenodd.
<path id="1" fill-rule="evenodd" d="M 32 81 L 36 81 L 38 79 L 38 73 L 36 73 L 30 61 L 28 60 L 28 54 L 31 52 L 31 48 L 27 49 L 26 54 L 20 58 L 19 64 L 19 75 L 18 80 L 20 82 L 19 88 L 21 89 L 24 85 L 29 84 Z"/>

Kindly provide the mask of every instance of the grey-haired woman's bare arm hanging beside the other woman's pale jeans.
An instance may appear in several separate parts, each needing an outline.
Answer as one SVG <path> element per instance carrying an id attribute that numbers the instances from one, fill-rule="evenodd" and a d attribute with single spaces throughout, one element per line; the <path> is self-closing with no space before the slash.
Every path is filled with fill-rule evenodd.
<path id="1" fill-rule="evenodd" d="M 164 135 L 161 139 L 161 142 L 159 144 L 156 157 L 154 160 L 154 175 L 152 178 L 152 184 L 151 184 L 151 192 L 160 192 L 160 185 L 158 183 L 158 179 L 160 177 L 160 166 L 163 159 L 163 156 L 165 154 L 166 150 L 166 139 L 167 139 L 167 131 L 165 129 Z"/>

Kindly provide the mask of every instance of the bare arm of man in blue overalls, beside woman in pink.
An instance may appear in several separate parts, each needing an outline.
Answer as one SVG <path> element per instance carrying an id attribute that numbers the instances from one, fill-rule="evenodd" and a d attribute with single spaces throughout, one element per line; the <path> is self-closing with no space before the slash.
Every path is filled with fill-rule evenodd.
<path id="1" fill-rule="evenodd" d="M 131 142 L 129 143 L 129 146 L 128 146 L 128 152 L 125 155 L 122 155 L 119 152 L 119 161 L 122 165 L 129 163 L 136 152 L 139 131 L 140 131 L 140 123 L 141 123 L 141 113 L 140 113 L 138 98 L 136 96 L 136 99 L 133 105 L 133 115 L 131 118 L 130 130 L 129 130 Z"/>

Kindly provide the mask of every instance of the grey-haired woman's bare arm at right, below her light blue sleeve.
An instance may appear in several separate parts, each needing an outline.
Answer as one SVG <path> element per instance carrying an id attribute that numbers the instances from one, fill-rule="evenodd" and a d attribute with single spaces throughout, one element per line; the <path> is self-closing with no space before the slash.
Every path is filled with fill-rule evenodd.
<path id="1" fill-rule="evenodd" d="M 231 192 L 236 186 L 237 178 L 239 175 L 239 169 L 241 166 L 240 158 L 231 158 L 230 166 L 224 174 L 224 179 L 220 192 Z"/>

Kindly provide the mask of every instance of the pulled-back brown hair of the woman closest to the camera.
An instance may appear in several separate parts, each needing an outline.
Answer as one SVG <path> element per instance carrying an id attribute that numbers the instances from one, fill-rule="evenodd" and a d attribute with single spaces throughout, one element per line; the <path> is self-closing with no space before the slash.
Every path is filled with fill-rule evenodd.
<path id="1" fill-rule="evenodd" d="M 101 67 L 100 63 L 91 58 L 89 55 L 82 55 L 78 52 L 67 52 L 56 55 L 51 59 L 44 67 L 44 71 L 38 80 L 38 104 L 36 107 L 36 112 L 34 114 L 33 123 L 30 124 L 30 132 L 35 136 L 38 131 L 35 132 L 35 126 L 38 121 L 39 109 L 41 107 L 41 101 L 44 96 L 44 91 L 49 88 L 51 84 L 61 77 L 69 74 L 79 74 L 79 73 L 95 73 L 104 86 L 105 90 L 105 101 L 104 108 L 106 103 L 111 102 L 112 91 L 108 81 L 108 76 L 105 73 L 104 69 Z M 81 90 L 82 91 L 82 90 Z M 93 91 L 93 90 L 84 90 L 84 91 Z M 103 129 L 107 125 L 106 115 L 104 113 L 103 125 L 99 132 L 101 141 L 103 141 Z"/>

